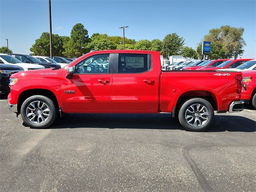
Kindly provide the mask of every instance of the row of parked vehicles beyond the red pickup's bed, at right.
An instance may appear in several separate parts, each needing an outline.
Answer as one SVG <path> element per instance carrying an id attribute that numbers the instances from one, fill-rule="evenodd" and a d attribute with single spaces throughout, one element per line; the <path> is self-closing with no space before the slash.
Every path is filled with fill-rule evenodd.
<path id="1" fill-rule="evenodd" d="M 243 76 L 241 99 L 245 103 L 251 103 L 256 109 L 256 59 L 239 58 L 174 62 L 163 65 L 162 70 L 240 71 Z"/>

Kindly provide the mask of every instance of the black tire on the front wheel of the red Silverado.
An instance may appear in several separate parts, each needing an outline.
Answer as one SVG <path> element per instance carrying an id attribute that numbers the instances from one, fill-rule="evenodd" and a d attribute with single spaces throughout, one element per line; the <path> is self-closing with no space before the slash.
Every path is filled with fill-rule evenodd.
<path id="1" fill-rule="evenodd" d="M 30 103 L 35 102 L 35 101 L 44 102 L 49 109 L 49 112 L 47 112 L 49 114 L 49 116 L 47 118 L 45 118 L 47 120 L 45 122 L 41 122 L 39 124 L 36 124 L 36 123 L 30 121 L 30 118 L 28 118 L 26 115 L 28 106 L 31 107 Z M 37 110 L 35 110 L 35 112 L 37 112 Z M 20 108 L 20 114 L 21 114 L 21 117 L 22 117 L 22 120 L 24 121 L 24 123 L 27 124 L 28 126 L 30 126 L 31 128 L 47 128 L 55 122 L 55 120 L 58 116 L 56 114 L 56 106 L 54 105 L 54 102 L 52 102 L 52 100 L 50 100 L 48 97 L 42 96 L 42 95 L 34 95 L 34 96 L 27 98 L 22 103 L 22 106 Z M 33 115 L 33 117 L 34 117 L 34 115 Z"/>

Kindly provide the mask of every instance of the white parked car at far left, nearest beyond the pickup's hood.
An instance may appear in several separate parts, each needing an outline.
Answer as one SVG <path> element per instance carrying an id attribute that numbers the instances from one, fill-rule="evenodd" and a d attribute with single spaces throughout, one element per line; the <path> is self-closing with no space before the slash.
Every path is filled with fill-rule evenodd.
<path id="1" fill-rule="evenodd" d="M 33 70 L 33 69 L 44 69 L 44 66 L 42 65 L 22 63 L 20 60 L 8 54 L 0 53 L 0 60 L 4 62 L 4 64 L 10 64 L 10 65 L 16 65 L 16 66 L 22 67 L 25 71 Z"/>

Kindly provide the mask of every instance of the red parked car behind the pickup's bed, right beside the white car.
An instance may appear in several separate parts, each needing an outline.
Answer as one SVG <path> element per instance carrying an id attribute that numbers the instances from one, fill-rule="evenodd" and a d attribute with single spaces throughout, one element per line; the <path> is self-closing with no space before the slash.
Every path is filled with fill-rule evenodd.
<path id="1" fill-rule="evenodd" d="M 217 70 L 217 69 L 226 69 L 226 68 L 236 68 L 242 65 L 246 61 L 250 61 L 252 59 L 230 59 L 216 67 L 202 67 L 196 70 Z"/>

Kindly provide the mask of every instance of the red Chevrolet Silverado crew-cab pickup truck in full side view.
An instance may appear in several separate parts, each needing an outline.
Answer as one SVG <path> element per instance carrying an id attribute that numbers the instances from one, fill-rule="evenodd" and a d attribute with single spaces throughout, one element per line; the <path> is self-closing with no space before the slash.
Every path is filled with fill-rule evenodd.
<path id="1" fill-rule="evenodd" d="M 65 68 L 19 72 L 10 89 L 9 109 L 34 128 L 64 113 L 172 113 L 202 131 L 214 110 L 238 112 L 244 103 L 241 72 L 161 71 L 160 52 L 142 50 L 94 51 Z"/>

